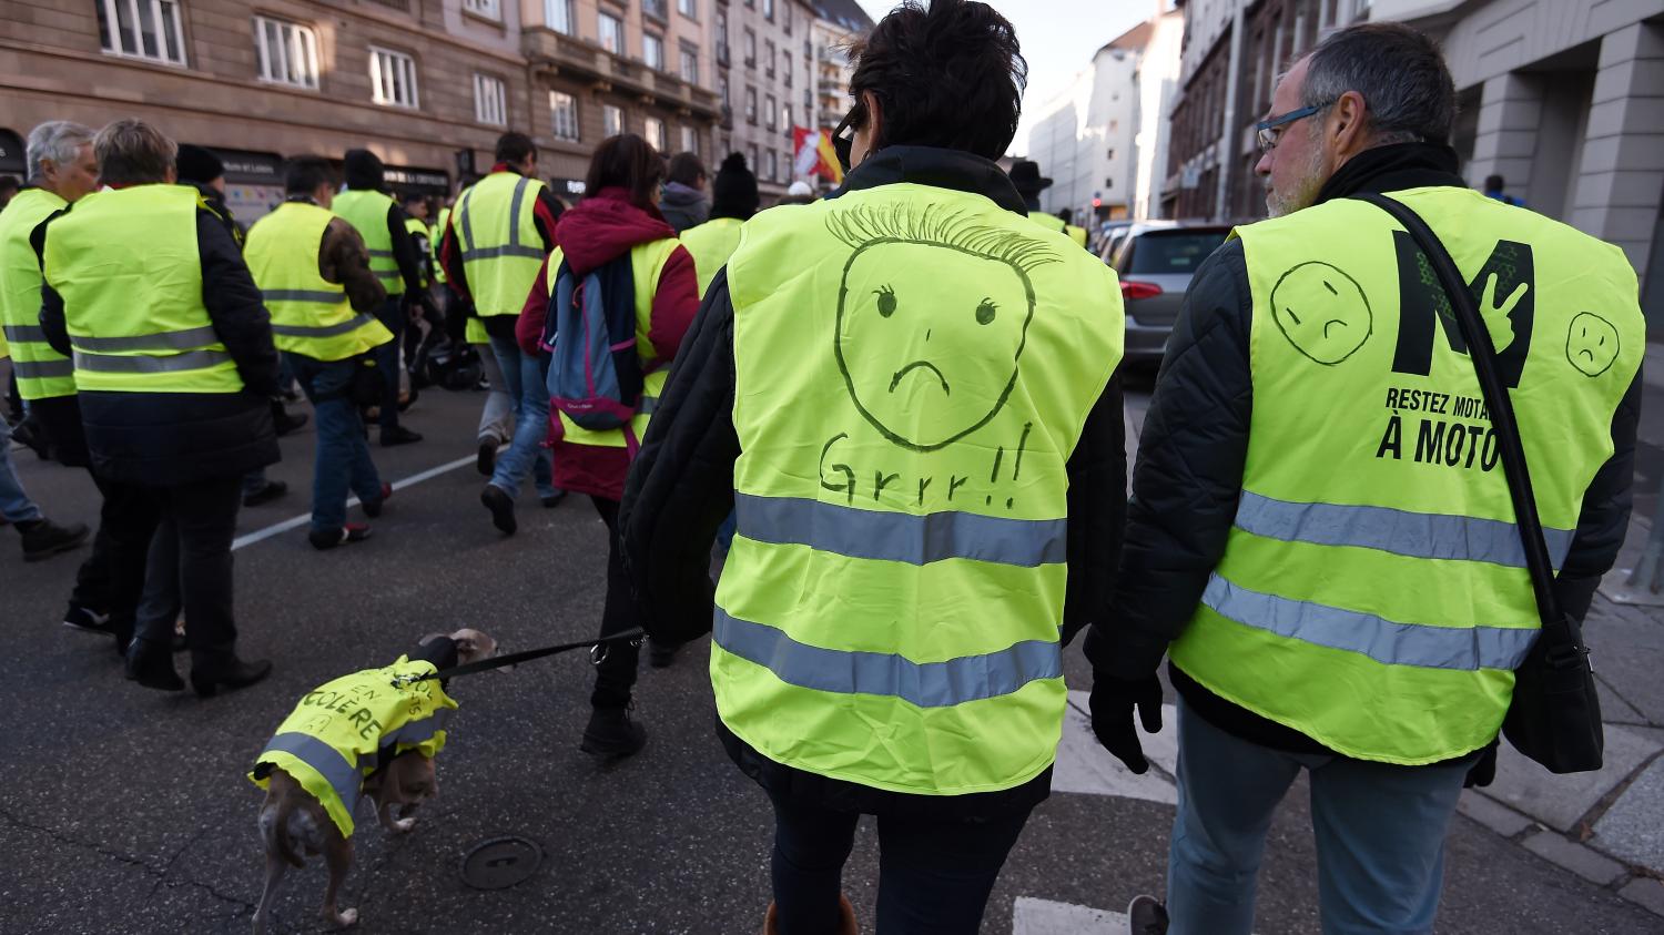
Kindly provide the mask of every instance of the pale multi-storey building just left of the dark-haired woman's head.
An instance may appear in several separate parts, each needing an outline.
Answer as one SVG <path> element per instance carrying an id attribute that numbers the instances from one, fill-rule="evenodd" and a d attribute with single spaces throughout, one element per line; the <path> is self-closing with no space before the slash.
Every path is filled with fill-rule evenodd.
<path id="1" fill-rule="evenodd" d="M 805 120 L 814 12 L 804 0 L 707 2 L 716 3 L 716 87 L 724 105 L 714 161 L 744 153 L 762 203 L 770 205 L 792 183 L 792 126 Z"/>

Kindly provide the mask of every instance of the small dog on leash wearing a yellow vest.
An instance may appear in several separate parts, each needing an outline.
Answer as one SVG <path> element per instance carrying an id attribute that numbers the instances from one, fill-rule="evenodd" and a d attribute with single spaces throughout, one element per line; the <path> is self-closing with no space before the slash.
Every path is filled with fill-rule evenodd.
<path id="1" fill-rule="evenodd" d="M 255 910 L 255 935 L 266 932 L 283 873 L 291 865 L 305 867 L 301 853 L 323 853 L 329 867 L 324 920 L 339 927 L 358 922 L 356 908 L 336 908 L 336 893 L 353 865 L 358 800 L 368 795 L 381 827 L 406 834 L 416 825 L 411 812 L 439 794 L 433 757 L 444 745 L 444 722 L 456 702 L 443 682 L 414 679 L 489 659 L 498 644 L 479 631 L 461 629 L 423 637 L 419 646 L 386 669 L 354 672 L 308 692 L 248 774 L 266 789 L 260 805 L 266 888 Z"/>

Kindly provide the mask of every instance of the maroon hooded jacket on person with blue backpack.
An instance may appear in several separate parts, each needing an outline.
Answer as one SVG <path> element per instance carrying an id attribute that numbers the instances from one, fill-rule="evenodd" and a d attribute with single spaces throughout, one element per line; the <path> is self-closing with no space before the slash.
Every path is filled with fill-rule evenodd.
<path id="1" fill-rule="evenodd" d="M 676 231 L 657 210 L 642 210 L 629 201 L 622 188 L 602 188 L 561 215 L 554 241 L 582 276 L 631 251 L 631 248 L 656 240 L 676 238 Z M 529 354 L 541 354 L 544 319 L 549 313 L 549 261 L 542 261 L 537 281 L 526 296 L 526 308 L 514 324 L 514 339 Z M 677 246 L 664 261 L 659 284 L 652 293 L 652 311 L 647 321 L 647 341 L 656 356 L 642 358 L 642 373 L 671 366 L 682 336 L 699 311 L 699 280 L 694 275 L 694 258 Z M 641 344 L 637 344 L 641 346 Z M 646 351 L 646 348 L 642 348 Z M 624 499 L 624 476 L 636 458 L 636 448 L 602 448 L 574 444 L 564 439 L 561 418 L 549 414 L 549 448 L 554 454 L 554 484 L 566 491 L 591 494 L 611 501 Z"/>

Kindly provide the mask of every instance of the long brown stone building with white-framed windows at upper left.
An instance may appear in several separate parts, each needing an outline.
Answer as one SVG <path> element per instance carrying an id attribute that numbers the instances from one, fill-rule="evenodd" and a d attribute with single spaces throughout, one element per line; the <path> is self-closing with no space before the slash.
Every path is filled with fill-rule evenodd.
<path id="1" fill-rule="evenodd" d="M 0 173 L 40 121 L 140 116 L 216 150 L 246 223 L 286 156 L 366 146 L 394 186 L 446 193 L 513 128 L 571 198 L 607 131 L 711 146 L 694 2 L 0 0 Z"/>

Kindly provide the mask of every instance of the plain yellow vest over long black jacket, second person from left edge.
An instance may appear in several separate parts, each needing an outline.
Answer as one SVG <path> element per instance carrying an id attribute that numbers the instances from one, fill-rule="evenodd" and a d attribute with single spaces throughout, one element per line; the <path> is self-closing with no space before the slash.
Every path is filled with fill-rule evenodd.
<path id="1" fill-rule="evenodd" d="M 95 191 L 47 226 L 45 278 L 63 296 L 82 393 L 243 389 L 203 306 L 200 208 L 186 185 L 136 185 Z"/>

